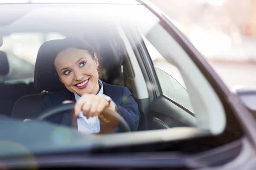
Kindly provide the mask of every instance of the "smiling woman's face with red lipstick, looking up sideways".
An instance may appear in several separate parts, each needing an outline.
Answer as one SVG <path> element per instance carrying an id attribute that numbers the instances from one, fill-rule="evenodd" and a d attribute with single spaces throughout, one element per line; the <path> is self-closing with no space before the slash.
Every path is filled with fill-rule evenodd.
<path id="1" fill-rule="evenodd" d="M 68 48 L 57 55 L 54 62 L 57 74 L 66 88 L 81 96 L 97 94 L 99 74 L 97 57 L 93 59 L 88 51 Z"/>

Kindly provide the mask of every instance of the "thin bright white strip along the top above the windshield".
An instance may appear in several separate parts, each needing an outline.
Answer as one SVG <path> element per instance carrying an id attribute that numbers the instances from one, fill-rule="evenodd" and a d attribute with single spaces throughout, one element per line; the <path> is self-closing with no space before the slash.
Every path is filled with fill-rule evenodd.
<path id="1" fill-rule="evenodd" d="M 99 4 L 141 4 L 137 0 L 0 0 L 3 3 L 99 3 Z"/>

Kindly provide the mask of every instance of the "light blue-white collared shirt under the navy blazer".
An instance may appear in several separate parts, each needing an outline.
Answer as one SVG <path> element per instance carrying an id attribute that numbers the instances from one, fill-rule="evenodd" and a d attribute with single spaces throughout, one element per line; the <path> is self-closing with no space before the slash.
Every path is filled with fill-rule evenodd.
<path id="1" fill-rule="evenodd" d="M 99 82 L 99 94 L 103 94 L 103 85 L 102 85 L 102 81 L 98 80 Z M 80 96 L 78 94 L 75 94 L 75 99 L 76 101 L 80 98 Z M 79 117 L 77 118 L 77 129 L 79 132 L 82 133 L 99 133 L 99 128 L 100 128 L 100 122 L 99 122 L 99 117 L 98 116 L 93 116 L 93 117 L 89 117 L 87 119 L 87 117 L 84 116 L 83 112 L 80 112 Z"/>

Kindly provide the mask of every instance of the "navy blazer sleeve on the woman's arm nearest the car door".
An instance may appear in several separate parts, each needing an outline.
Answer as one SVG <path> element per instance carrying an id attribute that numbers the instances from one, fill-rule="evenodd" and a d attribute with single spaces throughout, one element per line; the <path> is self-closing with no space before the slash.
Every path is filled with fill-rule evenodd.
<path id="1" fill-rule="evenodd" d="M 132 131 L 137 130 L 140 122 L 140 112 L 137 102 L 128 88 L 123 88 L 121 104 L 116 104 L 118 113 L 125 119 Z"/>

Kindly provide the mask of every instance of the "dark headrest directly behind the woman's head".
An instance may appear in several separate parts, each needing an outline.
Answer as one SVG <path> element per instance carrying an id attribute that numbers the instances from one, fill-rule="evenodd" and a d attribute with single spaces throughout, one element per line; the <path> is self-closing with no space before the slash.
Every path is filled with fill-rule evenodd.
<path id="1" fill-rule="evenodd" d="M 50 40 L 39 48 L 34 75 L 34 85 L 38 91 L 53 92 L 65 89 L 53 68 L 55 48 L 58 45 L 61 45 L 61 40 Z"/>

